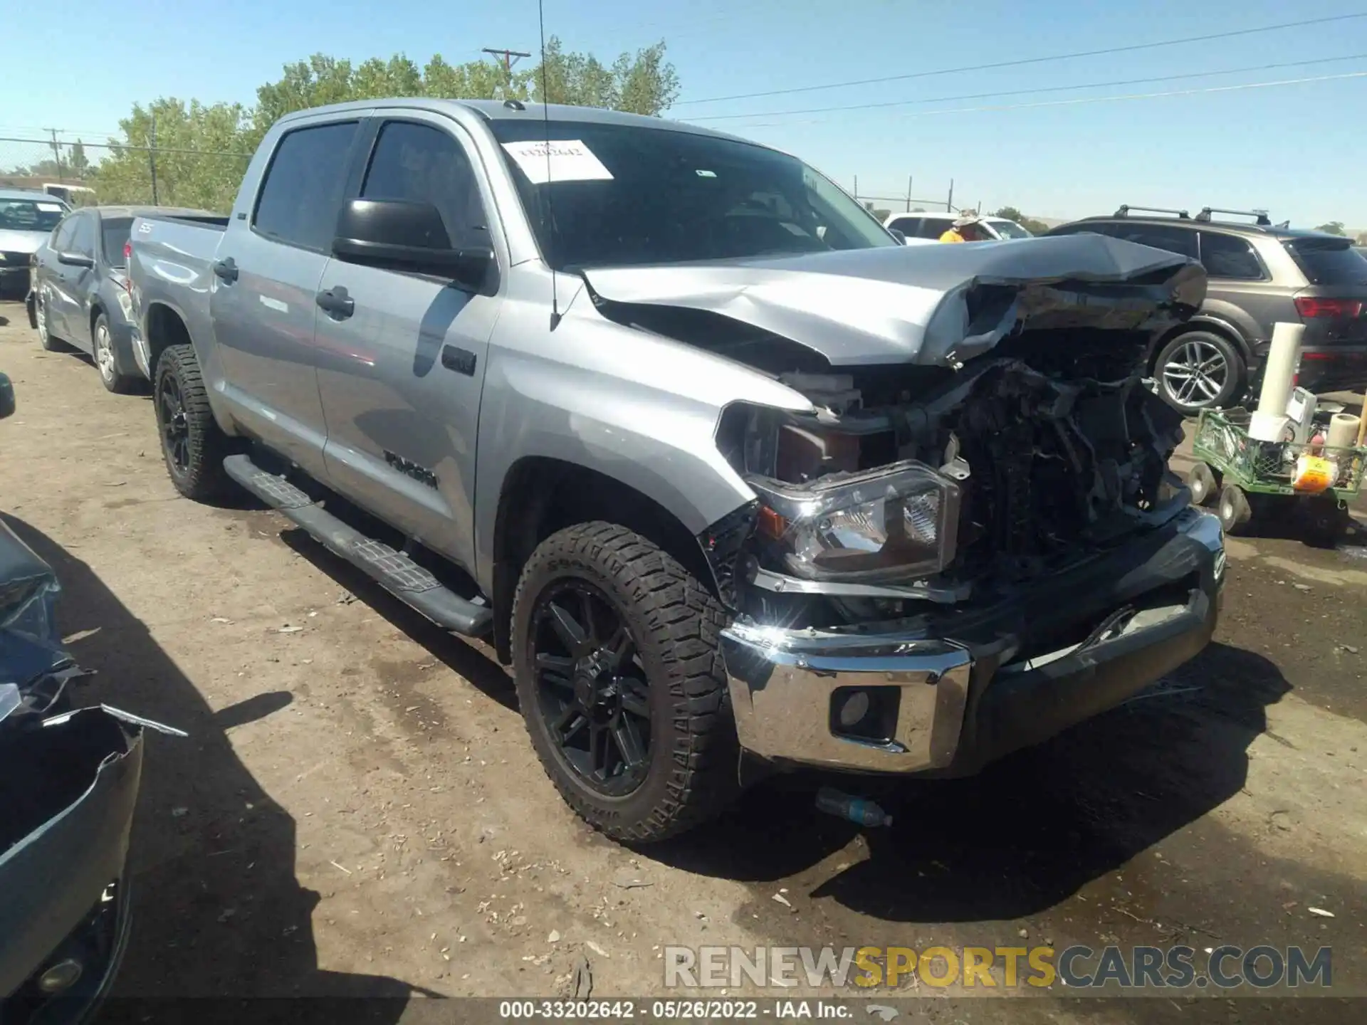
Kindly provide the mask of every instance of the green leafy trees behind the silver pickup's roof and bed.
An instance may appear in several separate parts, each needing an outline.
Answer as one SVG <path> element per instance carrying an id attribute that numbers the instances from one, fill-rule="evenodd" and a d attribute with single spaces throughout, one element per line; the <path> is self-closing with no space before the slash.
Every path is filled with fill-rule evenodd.
<path id="1" fill-rule="evenodd" d="M 547 41 L 545 85 L 551 102 L 606 107 L 659 116 L 678 96 L 678 74 L 664 59 L 664 42 L 622 53 L 611 67 L 589 53 L 567 53 L 558 38 Z M 323 53 L 286 64 L 275 82 L 257 89 L 254 107 L 205 105 L 161 98 L 135 105 L 119 122 L 120 139 L 87 175 L 101 202 L 152 202 L 148 146 L 156 119 L 157 200 L 163 205 L 227 210 L 261 138 L 291 111 L 387 96 L 463 100 L 540 100 L 541 68 L 511 72 L 500 62 L 448 64 L 436 55 L 425 67 L 396 53 L 353 64 Z M 185 152 L 176 152 L 185 150 Z M 85 167 L 79 142 L 71 148 Z"/>

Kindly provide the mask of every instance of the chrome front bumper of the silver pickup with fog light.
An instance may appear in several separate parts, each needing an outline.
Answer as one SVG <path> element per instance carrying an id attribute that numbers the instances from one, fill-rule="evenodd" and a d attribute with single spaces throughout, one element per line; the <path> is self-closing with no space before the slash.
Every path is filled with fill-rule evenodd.
<path id="1" fill-rule="evenodd" d="M 1122 554 L 1124 555 L 1124 554 Z M 1099 588 L 1139 611 L 1105 640 L 1016 660 L 1018 638 L 787 630 L 737 622 L 722 631 L 741 746 L 771 761 L 864 772 L 958 775 L 1120 704 L 1196 655 L 1219 611 L 1219 521 L 1182 511 L 1176 530 L 1128 570 L 1079 574 L 1081 605 Z M 1066 577 L 1066 574 L 1065 574 Z M 1106 581 L 1105 585 L 1096 581 Z M 1189 589 L 1181 586 L 1189 584 Z M 1068 581 L 1062 593 L 1069 593 Z M 1173 596 L 1173 585 L 1181 596 Z M 1163 590 L 1166 588 L 1166 590 Z M 1146 594 L 1159 594 L 1148 601 Z M 1057 597 L 1048 599 L 1057 604 Z M 880 739 L 837 726 L 842 689 L 895 700 Z"/>

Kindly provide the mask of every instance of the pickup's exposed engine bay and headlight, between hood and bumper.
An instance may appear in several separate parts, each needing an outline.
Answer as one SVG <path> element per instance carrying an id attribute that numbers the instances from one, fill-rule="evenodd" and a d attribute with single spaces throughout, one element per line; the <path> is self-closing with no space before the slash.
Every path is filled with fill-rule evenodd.
<path id="1" fill-rule="evenodd" d="M 1165 503 L 1181 417 L 1144 385 L 1146 351 L 1141 331 L 1081 328 L 1016 335 L 957 372 L 778 374 L 817 411 L 741 407 L 723 421 L 723 451 L 763 502 L 738 577 L 828 596 L 858 622 L 1006 593 L 1165 522 L 1185 506 L 1185 492 Z M 841 485 L 868 499 L 897 467 L 924 480 L 882 495 L 891 508 L 860 506 L 882 517 L 860 537 L 842 536 L 838 503 L 812 510 Z M 801 517 L 804 502 L 845 558 L 804 559 L 812 545 L 785 536 L 783 511 Z M 861 559 L 879 537 L 889 558 Z"/>

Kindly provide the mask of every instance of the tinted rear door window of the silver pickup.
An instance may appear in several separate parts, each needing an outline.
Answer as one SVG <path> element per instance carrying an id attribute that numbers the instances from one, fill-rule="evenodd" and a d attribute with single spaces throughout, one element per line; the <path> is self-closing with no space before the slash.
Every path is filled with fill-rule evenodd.
<path id="1" fill-rule="evenodd" d="M 295 128 L 280 139 L 252 220 L 260 234 L 319 253 L 332 247 L 357 124 Z"/>

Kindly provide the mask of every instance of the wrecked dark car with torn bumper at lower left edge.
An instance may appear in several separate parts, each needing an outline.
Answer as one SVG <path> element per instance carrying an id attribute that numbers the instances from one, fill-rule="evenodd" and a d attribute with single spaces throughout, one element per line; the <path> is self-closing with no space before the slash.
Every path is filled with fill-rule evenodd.
<path id="1" fill-rule="evenodd" d="M 0 522 L 0 1021 L 83 1020 L 127 939 L 142 726 L 71 711 L 52 569 Z M 167 727 L 157 727 L 167 728 Z"/>

